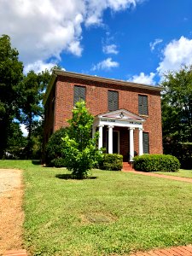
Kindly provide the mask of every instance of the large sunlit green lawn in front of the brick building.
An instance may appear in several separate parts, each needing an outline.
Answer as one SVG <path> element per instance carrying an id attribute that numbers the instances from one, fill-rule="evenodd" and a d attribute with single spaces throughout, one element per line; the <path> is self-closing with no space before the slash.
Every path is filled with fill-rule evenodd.
<path id="1" fill-rule="evenodd" d="M 0 160 L 25 170 L 25 245 L 32 255 L 128 255 L 192 242 L 192 186 L 158 177 Z"/>

